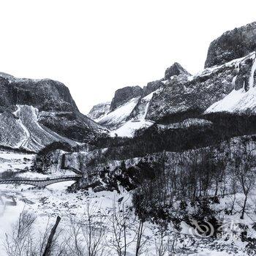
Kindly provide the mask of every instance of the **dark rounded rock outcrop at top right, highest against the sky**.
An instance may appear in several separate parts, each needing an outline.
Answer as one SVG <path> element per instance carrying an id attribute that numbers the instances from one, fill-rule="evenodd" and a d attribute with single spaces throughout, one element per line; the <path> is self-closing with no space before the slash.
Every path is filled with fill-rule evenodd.
<path id="1" fill-rule="evenodd" d="M 205 67 L 224 64 L 256 50 L 256 22 L 222 34 L 211 42 Z"/>

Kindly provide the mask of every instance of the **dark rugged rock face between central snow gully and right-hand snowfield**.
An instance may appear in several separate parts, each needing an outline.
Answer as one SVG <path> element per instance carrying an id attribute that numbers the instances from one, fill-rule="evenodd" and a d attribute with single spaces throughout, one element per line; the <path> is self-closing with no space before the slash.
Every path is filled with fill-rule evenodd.
<path id="1" fill-rule="evenodd" d="M 147 119 L 158 121 L 165 116 L 196 110 L 203 113 L 210 105 L 233 90 L 236 65 L 203 72 L 190 81 L 179 77 L 170 80 L 158 94 L 154 94 L 148 107 Z"/>

